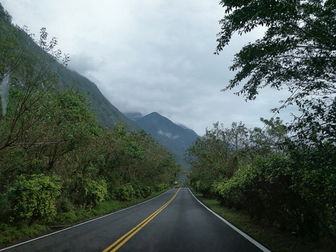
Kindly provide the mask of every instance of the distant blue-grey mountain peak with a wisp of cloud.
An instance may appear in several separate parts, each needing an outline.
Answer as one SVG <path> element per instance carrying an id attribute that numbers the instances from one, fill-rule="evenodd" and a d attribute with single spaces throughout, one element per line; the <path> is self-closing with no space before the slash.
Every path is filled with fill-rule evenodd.
<path id="1" fill-rule="evenodd" d="M 184 161 L 184 153 L 199 136 L 187 127 L 176 125 L 168 118 L 153 112 L 147 116 L 141 113 L 125 113 L 125 116 L 134 120 L 137 125 L 151 134 L 162 146 L 172 152 L 176 162 L 188 170 L 188 164 Z"/>

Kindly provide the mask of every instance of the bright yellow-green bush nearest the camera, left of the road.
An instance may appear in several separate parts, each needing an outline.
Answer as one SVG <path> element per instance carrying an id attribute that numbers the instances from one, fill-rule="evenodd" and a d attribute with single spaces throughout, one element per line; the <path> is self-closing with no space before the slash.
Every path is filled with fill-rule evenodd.
<path id="1" fill-rule="evenodd" d="M 50 221 L 56 215 L 56 198 L 60 195 L 59 176 L 43 174 L 21 175 L 8 190 L 8 199 L 12 206 L 11 221 L 38 218 Z"/>

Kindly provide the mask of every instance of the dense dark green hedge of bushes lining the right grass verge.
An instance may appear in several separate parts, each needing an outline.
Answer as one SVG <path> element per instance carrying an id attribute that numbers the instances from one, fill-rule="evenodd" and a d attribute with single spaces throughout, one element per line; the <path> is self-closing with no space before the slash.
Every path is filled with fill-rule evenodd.
<path id="1" fill-rule="evenodd" d="M 221 204 L 266 218 L 283 230 L 313 239 L 335 236 L 335 167 L 318 166 L 303 169 L 286 155 L 255 158 L 232 179 L 214 183 L 214 193 Z"/>

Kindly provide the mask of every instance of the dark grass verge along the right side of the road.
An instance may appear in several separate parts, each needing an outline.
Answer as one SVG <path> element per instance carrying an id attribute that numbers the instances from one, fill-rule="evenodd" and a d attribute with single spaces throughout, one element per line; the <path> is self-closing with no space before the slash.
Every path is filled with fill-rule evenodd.
<path id="1" fill-rule="evenodd" d="M 258 241 L 274 252 L 332 252 L 330 241 L 311 241 L 309 237 L 295 237 L 291 232 L 281 232 L 278 228 L 262 221 L 255 221 L 244 211 L 228 209 L 217 200 L 209 200 L 200 193 L 195 193 L 204 204 L 216 214 L 235 225 L 241 231 Z"/>

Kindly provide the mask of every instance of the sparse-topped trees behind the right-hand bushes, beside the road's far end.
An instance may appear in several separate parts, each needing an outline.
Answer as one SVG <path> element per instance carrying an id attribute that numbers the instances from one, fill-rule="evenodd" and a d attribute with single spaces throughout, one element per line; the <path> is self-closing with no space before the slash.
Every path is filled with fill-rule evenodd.
<path id="1" fill-rule="evenodd" d="M 190 164 L 190 183 L 204 195 L 212 195 L 214 182 L 230 179 L 255 156 L 281 153 L 286 140 L 286 127 L 279 118 L 265 120 L 263 129 L 247 129 L 242 123 L 232 123 L 231 128 L 214 124 L 202 139 L 197 139 L 188 149 L 186 160 Z"/>

